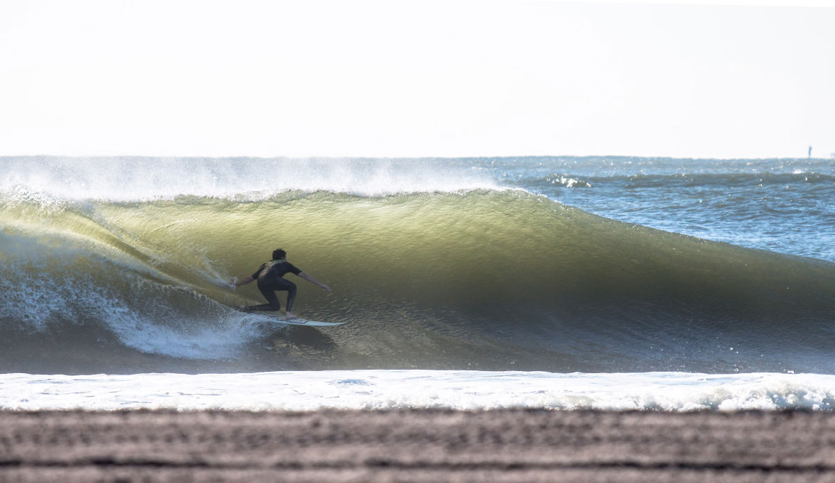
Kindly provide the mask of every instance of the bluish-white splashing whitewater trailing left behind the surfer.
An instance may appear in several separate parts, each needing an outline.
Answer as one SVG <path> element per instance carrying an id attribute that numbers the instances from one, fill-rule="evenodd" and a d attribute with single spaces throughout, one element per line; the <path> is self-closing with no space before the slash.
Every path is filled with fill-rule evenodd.
<path id="1" fill-rule="evenodd" d="M 144 278 L 157 272 L 106 246 L 43 241 L 0 234 L 0 257 L 7 258 L 0 264 L 0 317 L 14 318 L 22 332 L 92 322 L 135 350 L 216 360 L 238 355 L 267 330 L 194 289 Z M 79 259 L 99 264 L 107 278 L 79 274 Z"/>

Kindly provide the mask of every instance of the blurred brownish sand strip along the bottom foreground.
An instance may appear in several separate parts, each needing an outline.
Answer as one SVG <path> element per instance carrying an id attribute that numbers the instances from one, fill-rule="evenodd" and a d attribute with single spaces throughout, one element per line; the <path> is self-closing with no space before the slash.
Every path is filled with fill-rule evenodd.
<path id="1" fill-rule="evenodd" d="M 0 411 L 0 481 L 833 481 L 835 415 Z"/>

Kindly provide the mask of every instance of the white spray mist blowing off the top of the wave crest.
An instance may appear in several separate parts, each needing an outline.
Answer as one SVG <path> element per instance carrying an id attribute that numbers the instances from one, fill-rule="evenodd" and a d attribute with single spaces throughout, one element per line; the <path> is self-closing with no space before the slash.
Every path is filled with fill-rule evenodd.
<path id="1" fill-rule="evenodd" d="M 432 159 L 3 158 L 0 193 L 116 202 L 199 196 L 240 201 L 286 191 L 360 196 L 497 189 L 483 170 Z"/>

